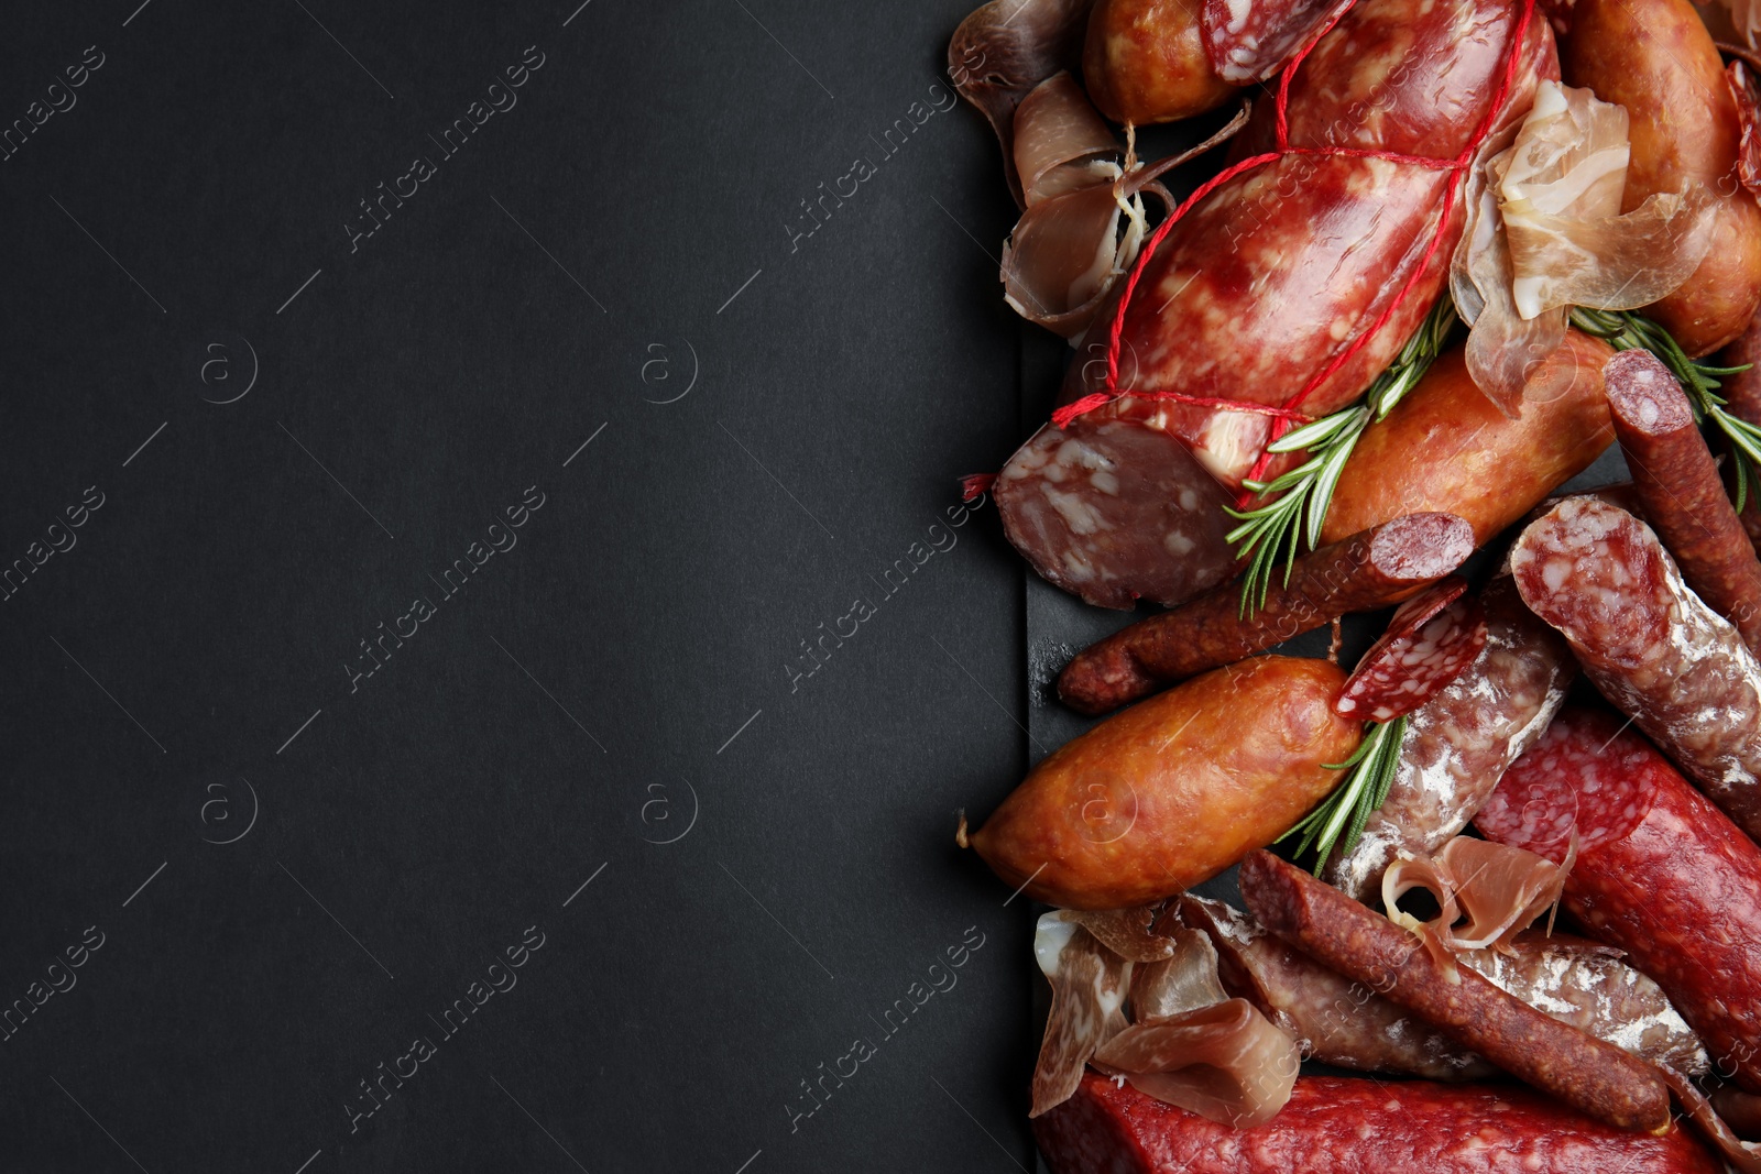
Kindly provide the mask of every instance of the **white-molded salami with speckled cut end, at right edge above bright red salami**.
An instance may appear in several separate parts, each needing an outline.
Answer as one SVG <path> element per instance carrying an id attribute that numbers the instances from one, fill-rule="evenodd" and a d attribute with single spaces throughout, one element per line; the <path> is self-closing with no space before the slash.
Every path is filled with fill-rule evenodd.
<path id="1" fill-rule="evenodd" d="M 1566 498 L 1523 530 L 1511 572 L 1603 695 L 1761 836 L 1761 664 L 1687 590 L 1652 528 L 1597 498 Z"/>

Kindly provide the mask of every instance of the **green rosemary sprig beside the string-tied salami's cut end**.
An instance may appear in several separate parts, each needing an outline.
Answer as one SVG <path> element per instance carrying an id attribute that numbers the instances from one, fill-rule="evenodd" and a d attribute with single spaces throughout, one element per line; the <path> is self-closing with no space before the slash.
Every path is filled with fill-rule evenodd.
<path id="1" fill-rule="evenodd" d="M 1231 517 L 1242 523 L 1227 533 L 1227 540 L 1238 542 L 1236 554 L 1249 560 L 1247 574 L 1242 577 L 1243 616 L 1266 604 L 1271 572 L 1280 558 L 1284 560 L 1284 581 L 1289 583 L 1291 563 L 1296 561 L 1301 544 L 1307 542 L 1308 549 L 1319 546 L 1321 525 L 1333 503 L 1333 489 L 1338 486 L 1340 473 L 1345 472 L 1351 451 L 1358 445 L 1358 437 L 1374 421 L 1388 415 L 1412 391 L 1412 385 L 1442 352 L 1455 320 L 1455 305 L 1448 297 L 1439 297 L 1430 315 L 1400 349 L 1395 361 L 1388 364 L 1388 370 L 1375 377 L 1359 403 L 1310 421 L 1266 445 L 1268 452 L 1307 449 L 1308 459 L 1271 481 L 1242 482 L 1257 498 L 1273 500 L 1247 510 L 1224 507 Z M 1757 433 L 1757 442 L 1761 442 L 1761 433 Z"/>

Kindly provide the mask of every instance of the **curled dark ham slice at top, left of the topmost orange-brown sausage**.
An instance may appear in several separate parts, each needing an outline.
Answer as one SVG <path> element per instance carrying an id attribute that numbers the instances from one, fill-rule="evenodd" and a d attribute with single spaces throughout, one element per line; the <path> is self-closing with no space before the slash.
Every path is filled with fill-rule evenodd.
<path id="1" fill-rule="evenodd" d="M 1090 2 L 990 0 L 960 21 L 947 42 L 947 76 L 997 132 L 1004 176 L 1021 208 L 1027 201 L 1016 172 L 1016 107 L 1034 86 L 1081 56 Z"/>

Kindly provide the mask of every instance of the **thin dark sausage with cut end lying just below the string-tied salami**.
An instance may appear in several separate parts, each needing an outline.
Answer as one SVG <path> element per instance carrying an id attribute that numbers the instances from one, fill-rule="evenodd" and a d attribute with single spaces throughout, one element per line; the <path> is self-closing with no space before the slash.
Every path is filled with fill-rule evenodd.
<path id="1" fill-rule="evenodd" d="M 1303 554 L 1287 579 L 1273 572 L 1252 616 L 1242 614 L 1242 590 L 1229 583 L 1115 632 L 1064 667 L 1058 697 L 1079 713 L 1108 713 L 1338 616 L 1386 607 L 1449 574 L 1472 553 L 1472 530 L 1460 517 L 1396 517 Z"/>

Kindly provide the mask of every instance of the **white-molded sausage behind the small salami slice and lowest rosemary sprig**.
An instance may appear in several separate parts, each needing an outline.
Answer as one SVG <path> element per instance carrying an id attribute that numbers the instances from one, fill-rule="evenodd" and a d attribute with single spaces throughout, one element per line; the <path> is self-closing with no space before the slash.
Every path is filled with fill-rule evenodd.
<path id="1" fill-rule="evenodd" d="M 1509 576 L 1479 595 L 1486 646 L 1437 697 L 1407 716 L 1388 799 L 1323 878 L 1359 901 L 1382 889 L 1396 854 L 1433 855 L 1486 801 L 1506 767 L 1566 702 L 1576 676 L 1571 649 L 1523 607 Z"/>

